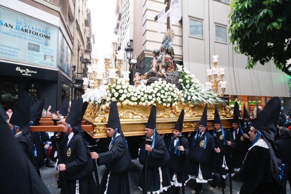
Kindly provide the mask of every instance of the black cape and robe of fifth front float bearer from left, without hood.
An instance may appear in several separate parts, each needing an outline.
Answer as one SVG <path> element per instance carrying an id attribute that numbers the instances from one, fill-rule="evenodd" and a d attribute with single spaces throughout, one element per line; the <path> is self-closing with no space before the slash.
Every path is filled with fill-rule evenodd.
<path id="1" fill-rule="evenodd" d="M 193 133 L 195 135 L 195 132 Z M 207 143 L 204 149 L 205 135 L 207 136 Z M 192 137 L 190 146 L 189 146 L 190 147 L 189 175 L 191 175 L 191 178 L 192 176 L 193 177 L 195 176 L 196 181 L 200 182 L 199 180 L 197 180 L 197 177 L 199 175 L 198 173 L 199 173 L 199 164 L 200 164 L 200 170 L 202 173 L 203 180 L 205 181 L 211 180 L 212 179 L 211 159 L 212 159 L 213 149 L 215 148 L 214 139 L 207 131 L 205 131 L 198 140 L 196 139 L 194 146 L 193 146 L 193 142 L 194 142 L 194 136 Z"/>

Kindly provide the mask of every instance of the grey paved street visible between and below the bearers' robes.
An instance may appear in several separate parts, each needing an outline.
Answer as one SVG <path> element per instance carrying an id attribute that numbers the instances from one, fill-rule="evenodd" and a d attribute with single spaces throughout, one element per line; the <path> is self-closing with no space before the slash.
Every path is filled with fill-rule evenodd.
<path id="1" fill-rule="evenodd" d="M 139 164 L 138 160 L 133 160 L 134 164 L 134 170 L 129 173 L 129 182 L 130 182 L 130 193 L 131 194 L 141 194 L 142 192 L 138 188 L 138 182 L 139 182 L 139 176 L 142 171 L 142 165 Z M 98 175 L 99 175 L 99 180 L 101 181 L 103 173 L 105 171 L 105 166 L 100 166 L 98 167 Z M 59 194 L 60 189 L 57 189 L 57 185 L 54 184 L 55 181 L 57 181 L 57 177 L 55 177 L 55 173 L 57 173 L 56 168 L 47 168 L 47 167 L 42 167 L 41 168 L 41 177 L 44 178 L 44 183 L 48 187 L 49 191 L 52 194 Z M 209 184 L 203 184 L 203 193 L 220 193 L 219 189 L 214 189 L 212 191 L 209 191 L 208 188 Z M 236 194 L 241 186 L 241 182 L 239 180 L 238 175 L 236 174 L 232 178 L 232 187 L 233 187 L 233 193 Z M 191 190 L 194 187 L 194 181 L 190 180 L 187 183 L 187 186 L 185 187 L 185 193 L 191 193 Z M 227 179 L 226 187 L 228 188 L 225 193 L 229 193 L 229 179 Z M 172 189 L 170 189 L 169 193 L 174 193 Z M 180 193 L 182 193 L 182 190 L 180 190 Z M 287 184 L 287 193 L 290 193 L 290 187 L 289 184 Z"/>

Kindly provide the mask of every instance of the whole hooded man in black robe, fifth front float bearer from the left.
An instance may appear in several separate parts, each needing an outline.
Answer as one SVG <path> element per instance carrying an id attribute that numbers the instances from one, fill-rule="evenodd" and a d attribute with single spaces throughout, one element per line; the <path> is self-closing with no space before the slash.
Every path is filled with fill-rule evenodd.
<path id="1" fill-rule="evenodd" d="M 202 192 L 202 183 L 212 180 L 211 157 L 215 152 L 215 143 L 207 130 L 207 104 L 198 124 L 195 136 L 190 142 L 189 177 L 196 180 L 196 188 L 192 193 Z"/>

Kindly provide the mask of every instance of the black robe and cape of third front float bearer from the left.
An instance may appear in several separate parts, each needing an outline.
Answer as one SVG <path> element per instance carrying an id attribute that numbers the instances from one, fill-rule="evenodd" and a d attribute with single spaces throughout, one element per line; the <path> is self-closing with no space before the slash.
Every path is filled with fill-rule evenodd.
<path id="1" fill-rule="evenodd" d="M 145 179 L 145 154 L 148 154 L 145 149 L 145 140 L 142 141 L 142 149 L 139 152 L 139 163 L 144 165 L 142 168 L 142 173 L 139 178 L 139 187 L 144 189 L 144 179 Z M 161 184 L 162 187 L 169 187 L 171 185 L 170 181 L 170 171 L 167 167 L 168 162 L 170 161 L 170 154 L 165 145 L 164 139 L 156 134 L 155 135 L 155 145 L 148 155 L 148 168 L 147 168 L 147 183 L 146 191 L 159 191 Z M 161 167 L 162 172 L 162 183 L 159 172 L 159 167 Z"/>

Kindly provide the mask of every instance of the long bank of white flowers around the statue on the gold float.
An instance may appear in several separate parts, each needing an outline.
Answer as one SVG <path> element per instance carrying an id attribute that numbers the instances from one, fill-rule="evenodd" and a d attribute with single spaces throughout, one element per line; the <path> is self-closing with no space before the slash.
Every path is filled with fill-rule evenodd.
<path id="1" fill-rule="evenodd" d="M 119 102 L 118 105 L 140 105 L 149 106 L 153 104 L 161 104 L 169 107 L 175 106 L 179 101 L 185 103 L 224 103 L 212 91 L 209 91 L 202 83 L 190 74 L 190 71 L 177 65 L 180 75 L 179 81 L 182 83 L 183 89 L 179 90 L 175 84 L 167 83 L 161 78 L 149 86 L 144 84 L 137 87 L 129 84 L 127 80 L 118 78 L 116 84 L 108 86 L 100 86 L 99 89 L 87 89 L 82 95 L 84 101 L 94 102 L 95 104 L 105 104 L 107 107 L 111 101 Z"/>

